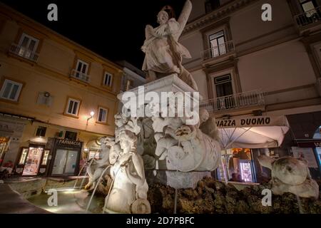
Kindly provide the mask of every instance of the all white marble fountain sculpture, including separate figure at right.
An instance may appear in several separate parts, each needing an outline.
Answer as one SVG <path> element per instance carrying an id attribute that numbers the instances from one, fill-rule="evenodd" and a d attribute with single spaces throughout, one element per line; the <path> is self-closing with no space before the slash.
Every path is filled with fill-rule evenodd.
<path id="1" fill-rule="evenodd" d="M 178 21 L 169 19 L 167 12 L 160 11 L 160 26 L 146 26 L 146 41 L 142 51 L 146 53 L 143 70 L 147 73 L 148 83 L 144 86 L 143 93 L 160 95 L 162 92 L 170 92 L 176 95 L 198 91 L 193 77 L 182 66 L 182 58 L 190 58 L 190 53 L 178 43 L 191 9 L 192 4 L 187 0 Z M 195 101 L 195 96 L 190 95 L 189 102 L 185 98 L 183 106 L 168 105 L 166 110 L 161 111 L 155 107 L 159 107 L 163 101 L 150 100 L 141 106 L 138 101 L 137 109 L 143 108 L 145 112 L 147 110 L 152 114 L 142 117 L 133 115 L 136 112 L 126 106 L 128 98 L 139 97 L 141 93 L 139 88 L 134 88 L 118 94 L 118 99 L 123 103 L 123 113 L 115 115 L 115 138 L 101 140 L 102 160 L 91 162 L 87 168 L 89 182 L 86 189 L 93 189 L 93 186 L 98 185 L 98 177 L 101 178 L 106 170 L 111 176 L 104 212 L 151 213 L 151 205 L 147 199 L 148 171 L 153 172 L 148 180 L 156 179 L 159 172 L 165 172 L 161 179 L 165 180 L 166 185 L 175 189 L 188 188 L 195 187 L 195 183 L 204 176 L 210 176 L 210 171 L 216 170 L 221 162 L 220 138 L 215 118 L 211 118 L 205 109 L 198 110 L 198 103 L 196 123 L 191 124 L 188 115 L 177 115 L 180 109 L 188 106 L 190 100 Z M 169 117 L 168 108 L 175 115 Z M 264 157 L 260 162 L 272 169 L 272 191 L 275 194 L 293 192 L 302 197 L 316 197 L 315 182 L 311 180 L 305 163 L 295 161 L 293 165 L 292 160 L 271 161 Z M 289 174 L 280 172 L 290 163 L 292 170 Z M 292 183 L 296 180 L 296 172 L 300 172 L 299 179 L 302 182 Z M 291 179 L 291 175 L 295 178 Z M 290 182 L 283 180 L 283 177 Z M 284 182 L 284 185 L 278 180 Z M 292 185 L 300 185 L 299 188 L 308 189 L 308 193 L 303 194 L 302 190 L 300 193 L 297 186 Z"/>

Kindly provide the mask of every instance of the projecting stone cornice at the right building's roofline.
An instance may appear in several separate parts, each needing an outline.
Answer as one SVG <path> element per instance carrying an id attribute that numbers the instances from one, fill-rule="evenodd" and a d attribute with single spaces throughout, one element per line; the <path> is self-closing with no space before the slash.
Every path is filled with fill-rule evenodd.
<path id="1" fill-rule="evenodd" d="M 225 6 L 211 11 L 210 13 L 201 16 L 199 19 L 196 19 L 195 21 L 191 21 L 190 23 L 188 23 L 185 26 L 182 35 L 190 33 L 195 29 L 202 28 L 203 26 L 208 26 L 209 24 L 213 23 L 213 21 L 222 19 L 223 17 L 228 16 L 229 14 L 232 14 L 245 6 L 248 6 L 255 1 L 259 0 L 234 0 L 229 4 L 226 4 Z"/>

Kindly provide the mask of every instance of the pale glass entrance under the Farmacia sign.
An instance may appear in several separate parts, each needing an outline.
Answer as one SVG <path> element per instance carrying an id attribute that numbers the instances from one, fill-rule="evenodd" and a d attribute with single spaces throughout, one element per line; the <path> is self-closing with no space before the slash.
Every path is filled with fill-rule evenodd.
<path id="1" fill-rule="evenodd" d="M 78 150 L 56 150 L 52 175 L 73 175 L 76 170 Z"/>

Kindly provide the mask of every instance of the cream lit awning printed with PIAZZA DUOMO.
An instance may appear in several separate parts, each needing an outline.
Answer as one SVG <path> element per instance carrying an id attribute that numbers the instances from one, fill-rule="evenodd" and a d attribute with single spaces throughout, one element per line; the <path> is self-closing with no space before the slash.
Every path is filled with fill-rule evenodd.
<path id="1" fill-rule="evenodd" d="M 289 125 L 285 116 L 255 116 L 216 120 L 223 150 L 279 147 Z"/>

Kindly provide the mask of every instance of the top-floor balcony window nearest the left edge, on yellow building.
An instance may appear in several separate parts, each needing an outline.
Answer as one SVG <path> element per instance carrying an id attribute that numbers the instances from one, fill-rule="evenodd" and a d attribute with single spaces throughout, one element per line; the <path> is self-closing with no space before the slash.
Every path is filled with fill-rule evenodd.
<path id="1" fill-rule="evenodd" d="M 36 53 L 36 49 L 38 47 L 39 40 L 27 35 L 26 33 L 22 33 L 22 36 L 19 41 L 19 56 L 23 56 L 25 58 L 33 58 L 34 53 Z"/>

